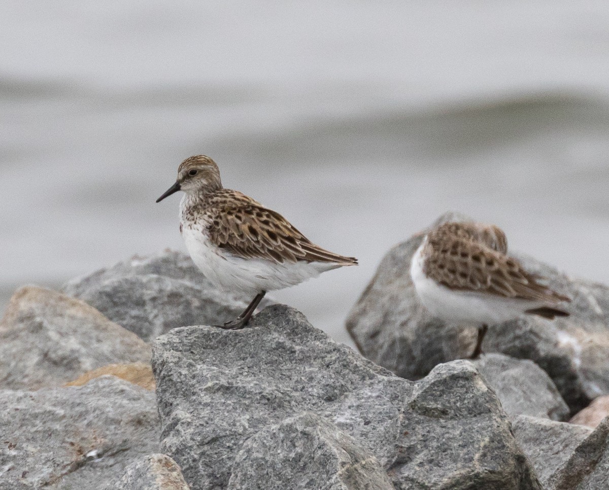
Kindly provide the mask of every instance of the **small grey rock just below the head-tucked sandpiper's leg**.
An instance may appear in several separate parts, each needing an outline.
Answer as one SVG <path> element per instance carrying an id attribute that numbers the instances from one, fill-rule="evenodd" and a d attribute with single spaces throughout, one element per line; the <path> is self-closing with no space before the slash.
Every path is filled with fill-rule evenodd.
<path id="1" fill-rule="evenodd" d="M 483 354 L 473 361 L 510 418 L 517 415 L 564 421 L 569 407 L 546 372 L 532 361 Z"/>

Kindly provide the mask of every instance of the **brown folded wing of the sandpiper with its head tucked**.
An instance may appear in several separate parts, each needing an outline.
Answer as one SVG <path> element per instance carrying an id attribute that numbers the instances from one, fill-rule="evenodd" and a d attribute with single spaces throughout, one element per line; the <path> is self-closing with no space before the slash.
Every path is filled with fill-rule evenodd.
<path id="1" fill-rule="evenodd" d="M 430 278 L 450 289 L 547 303 L 569 301 L 566 296 L 537 282 L 537 278 L 527 273 L 516 259 L 493 250 L 484 242 L 462 237 L 430 238 L 424 270 Z"/>

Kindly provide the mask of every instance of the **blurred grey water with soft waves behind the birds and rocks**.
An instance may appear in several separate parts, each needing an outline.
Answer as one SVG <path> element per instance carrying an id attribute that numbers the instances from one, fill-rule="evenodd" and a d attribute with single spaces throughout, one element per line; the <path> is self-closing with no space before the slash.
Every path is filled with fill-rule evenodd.
<path id="1" fill-rule="evenodd" d="M 178 163 L 357 268 L 273 298 L 336 340 L 383 254 L 447 210 L 609 282 L 609 2 L 1 2 L 0 312 L 184 250 Z M 407 265 L 405 265 L 407 267 Z"/>

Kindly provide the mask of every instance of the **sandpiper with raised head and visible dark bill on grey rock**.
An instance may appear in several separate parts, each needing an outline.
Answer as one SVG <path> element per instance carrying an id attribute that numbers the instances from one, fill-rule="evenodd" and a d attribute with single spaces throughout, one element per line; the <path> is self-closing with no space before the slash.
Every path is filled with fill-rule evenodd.
<path id="1" fill-rule="evenodd" d="M 220 171 L 208 156 L 186 158 L 175 184 L 157 203 L 177 191 L 185 193 L 180 233 L 192 261 L 220 289 L 253 296 L 244 312 L 223 328 L 243 328 L 267 291 L 357 265 L 354 257 L 311 243 L 278 212 L 222 187 Z"/>

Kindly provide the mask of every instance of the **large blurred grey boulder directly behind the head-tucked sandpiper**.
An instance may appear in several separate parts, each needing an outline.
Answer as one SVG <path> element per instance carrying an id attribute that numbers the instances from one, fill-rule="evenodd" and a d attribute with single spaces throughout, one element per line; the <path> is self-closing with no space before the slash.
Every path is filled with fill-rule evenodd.
<path id="1" fill-rule="evenodd" d="M 432 226 L 456 220 L 470 219 L 450 213 Z M 425 376 L 438 363 L 468 357 L 477 331 L 476 326 L 443 323 L 418 301 L 409 268 L 424 233 L 385 255 L 347 319 L 347 330 L 362 354 L 407 379 Z M 609 288 L 510 253 L 572 298 L 566 306 L 571 316 L 554 321 L 530 316 L 491 326 L 484 351 L 535 362 L 552 378 L 572 412 L 609 394 Z"/>

